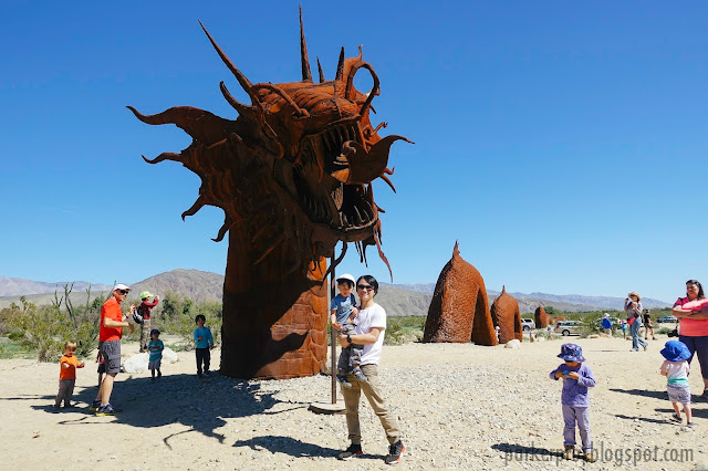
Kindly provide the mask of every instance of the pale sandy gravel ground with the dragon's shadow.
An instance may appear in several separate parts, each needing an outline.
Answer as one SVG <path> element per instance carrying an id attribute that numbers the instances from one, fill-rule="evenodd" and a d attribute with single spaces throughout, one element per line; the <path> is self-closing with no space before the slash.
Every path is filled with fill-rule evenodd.
<path id="1" fill-rule="evenodd" d="M 708 469 L 708 402 L 694 406 L 693 429 L 668 420 L 671 406 L 657 373 L 665 336 L 638 353 L 621 338 L 571 338 L 583 347 L 597 378 L 591 421 L 600 461 L 587 468 Z M 548 374 L 560 363 L 563 342 L 525 341 L 520 349 L 386 346 L 381 376 L 407 448 L 398 468 L 583 467 L 559 452 L 561 384 Z M 136 345 L 124 346 L 125 356 L 135 352 Z M 115 417 L 88 412 L 97 381 L 91 362 L 79 370 L 76 407 L 55 411 L 58 365 L 0 360 L 0 468 L 387 468 L 387 442 L 367 404 L 362 410 L 364 456 L 336 460 L 348 444 L 344 416 L 308 409 L 330 400 L 329 376 L 243 381 L 215 374 L 199 379 L 194 353 L 179 357 L 164 366 L 160 380 L 152 381 L 147 371 L 118 375 L 112 402 L 124 412 Z M 218 349 L 214 358 L 218 366 Z M 702 391 L 698 374 L 690 384 L 694 394 Z"/>

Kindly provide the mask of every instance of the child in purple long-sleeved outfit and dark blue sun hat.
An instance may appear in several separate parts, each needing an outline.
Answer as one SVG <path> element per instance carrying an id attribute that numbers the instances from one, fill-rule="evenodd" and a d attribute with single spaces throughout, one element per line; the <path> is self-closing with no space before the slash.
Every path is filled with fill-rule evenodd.
<path id="1" fill-rule="evenodd" d="M 563 391 L 561 393 L 561 404 L 563 406 L 563 446 L 565 451 L 563 458 L 570 460 L 575 450 L 575 423 L 580 430 L 580 438 L 583 442 L 583 458 L 592 463 L 597 460 L 593 454 L 593 441 L 590 435 L 590 395 L 587 388 L 595 386 L 595 377 L 583 356 L 580 345 L 563 344 L 561 354 L 565 363 L 559 365 L 551 371 L 551 379 L 563 378 Z"/>

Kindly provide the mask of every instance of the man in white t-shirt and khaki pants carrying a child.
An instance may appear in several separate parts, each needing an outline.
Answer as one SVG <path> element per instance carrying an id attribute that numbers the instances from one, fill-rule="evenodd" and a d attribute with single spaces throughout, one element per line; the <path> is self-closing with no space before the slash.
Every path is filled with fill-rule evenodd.
<path id="1" fill-rule="evenodd" d="M 400 430 L 393 414 L 386 408 L 381 395 L 378 383 L 378 360 L 384 346 L 384 331 L 386 329 L 386 311 L 374 302 L 378 292 L 378 282 L 372 275 L 361 276 L 356 282 L 356 293 L 360 299 L 358 325 L 354 334 L 341 334 L 340 345 L 345 348 L 350 344 L 364 346 L 362 352 L 362 371 L 367 380 L 357 379 L 347 374 L 351 387 L 342 388 L 344 406 L 346 407 L 346 428 L 352 441 L 350 447 L 340 453 L 341 460 L 348 461 L 358 457 L 362 451 L 362 431 L 358 423 L 358 404 L 362 393 L 381 420 L 388 440 L 388 454 L 384 458 L 386 464 L 397 464 L 403 458 L 406 447 L 400 441 Z"/>

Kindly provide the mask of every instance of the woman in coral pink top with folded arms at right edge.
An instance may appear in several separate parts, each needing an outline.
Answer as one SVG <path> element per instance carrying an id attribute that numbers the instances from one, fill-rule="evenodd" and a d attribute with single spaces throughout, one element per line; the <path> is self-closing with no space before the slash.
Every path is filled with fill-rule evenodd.
<path id="1" fill-rule="evenodd" d="M 698 356 L 700 375 L 704 378 L 701 397 L 708 399 L 708 300 L 698 280 L 686 282 L 686 297 L 676 300 L 673 314 L 679 320 L 678 339 L 690 350 L 688 363 L 693 359 L 694 353 Z"/>

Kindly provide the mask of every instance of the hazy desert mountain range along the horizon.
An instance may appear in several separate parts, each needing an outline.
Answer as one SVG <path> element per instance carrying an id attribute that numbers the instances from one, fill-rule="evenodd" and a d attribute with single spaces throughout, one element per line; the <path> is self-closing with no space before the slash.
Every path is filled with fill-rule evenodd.
<path id="1" fill-rule="evenodd" d="M 28 301 L 35 304 L 50 304 L 54 300 L 54 291 L 63 294 L 66 282 L 41 282 L 17 278 L 0 276 L 0 308 L 11 303 L 19 303 L 24 295 Z M 71 284 L 71 283 L 69 283 Z M 86 289 L 91 286 L 92 297 L 105 294 L 111 290 L 110 285 L 95 284 L 85 281 L 74 282 L 71 295 L 72 302 L 83 304 L 86 302 Z M 223 290 L 223 275 L 199 270 L 177 269 L 150 276 L 133 285 L 134 293 L 149 291 L 160 294 L 163 297 L 173 292 L 196 302 L 221 301 Z M 392 316 L 417 315 L 426 316 L 435 290 L 434 283 L 419 284 L 388 284 L 381 283 L 377 302 L 386 307 Z M 498 291 L 487 290 L 489 303 L 499 295 Z M 563 312 L 584 311 L 611 311 L 622 310 L 623 297 L 612 296 L 583 296 L 579 294 L 548 294 L 548 293 L 509 293 L 519 301 L 521 314 L 533 313 L 540 305 L 553 306 Z M 645 307 L 666 307 L 667 303 L 647 297 L 642 299 Z"/>

